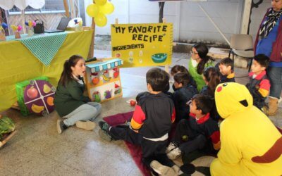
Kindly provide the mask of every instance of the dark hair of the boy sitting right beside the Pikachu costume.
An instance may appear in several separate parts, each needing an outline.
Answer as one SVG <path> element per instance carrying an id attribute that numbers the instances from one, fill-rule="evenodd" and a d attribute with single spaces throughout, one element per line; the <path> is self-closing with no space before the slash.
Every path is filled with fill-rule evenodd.
<path id="1" fill-rule="evenodd" d="M 214 101 L 204 94 L 195 94 L 195 96 L 192 97 L 192 101 L 195 101 L 197 110 L 202 110 L 202 114 L 209 113 L 214 106 Z"/>

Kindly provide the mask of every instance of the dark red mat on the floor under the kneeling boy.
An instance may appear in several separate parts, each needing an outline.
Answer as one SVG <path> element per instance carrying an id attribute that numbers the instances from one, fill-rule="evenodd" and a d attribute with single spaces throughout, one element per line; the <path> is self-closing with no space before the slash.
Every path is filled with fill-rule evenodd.
<path id="1" fill-rule="evenodd" d="M 133 111 L 128 112 L 128 113 L 118 113 L 116 115 L 111 115 L 103 119 L 107 123 L 109 123 L 109 125 L 116 126 L 119 124 L 123 124 L 126 121 L 130 121 L 132 115 L 133 115 Z M 130 144 L 129 142 L 125 142 L 125 144 L 128 147 L 130 155 L 133 157 L 135 164 L 141 170 L 142 174 L 146 176 L 150 175 L 149 169 L 142 163 L 141 146 L 136 146 L 136 145 Z"/>

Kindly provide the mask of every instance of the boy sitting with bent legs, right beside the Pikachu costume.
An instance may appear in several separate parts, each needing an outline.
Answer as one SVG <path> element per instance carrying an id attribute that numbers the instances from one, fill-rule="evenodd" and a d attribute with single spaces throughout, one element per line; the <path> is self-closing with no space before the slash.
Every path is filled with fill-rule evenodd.
<path id="1" fill-rule="evenodd" d="M 178 122 L 176 134 L 166 148 L 168 158 L 174 160 L 181 154 L 196 150 L 214 153 L 220 149 L 219 126 L 209 116 L 212 107 L 213 101 L 209 96 L 193 96 L 190 118 Z"/>

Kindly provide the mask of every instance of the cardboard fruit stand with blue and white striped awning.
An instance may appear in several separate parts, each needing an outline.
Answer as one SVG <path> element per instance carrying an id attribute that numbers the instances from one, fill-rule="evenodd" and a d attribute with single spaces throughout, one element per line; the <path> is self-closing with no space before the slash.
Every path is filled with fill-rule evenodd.
<path id="1" fill-rule="evenodd" d="M 119 58 L 108 58 L 86 65 L 85 83 L 88 96 L 92 101 L 103 102 L 122 96 Z"/>

